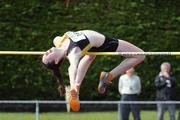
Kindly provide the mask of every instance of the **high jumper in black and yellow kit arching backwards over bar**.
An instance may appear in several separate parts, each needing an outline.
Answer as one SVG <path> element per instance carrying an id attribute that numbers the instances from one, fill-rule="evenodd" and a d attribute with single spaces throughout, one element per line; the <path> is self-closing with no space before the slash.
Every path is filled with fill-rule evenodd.
<path id="1" fill-rule="evenodd" d="M 59 66 L 65 58 L 69 60 L 70 106 L 73 111 L 79 111 L 80 109 L 79 89 L 89 66 L 96 57 L 96 55 L 86 55 L 86 52 L 143 52 L 143 50 L 129 42 L 110 38 L 92 30 L 66 32 L 62 37 L 55 37 L 53 43 L 55 47 L 46 51 L 42 57 L 42 62 L 47 68 L 53 70 L 54 75 L 63 86 Z M 144 55 L 124 56 L 126 59 L 110 72 L 101 72 L 98 85 L 99 93 L 105 93 L 107 86 L 115 77 L 145 59 Z M 61 92 L 63 90 L 64 87 L 61 88 Z"/>

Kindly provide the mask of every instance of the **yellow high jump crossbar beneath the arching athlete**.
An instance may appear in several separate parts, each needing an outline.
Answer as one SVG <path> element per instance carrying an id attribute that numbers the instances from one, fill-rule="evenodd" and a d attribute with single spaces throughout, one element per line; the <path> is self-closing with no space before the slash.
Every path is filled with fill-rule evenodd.
<path id="1" fill-rule="evenodd" d="M 43 51 L 0 51 L 0 55 L 43 55 Z M 180 52 L 86 52 L 86 55 L 180 55 Z"/>

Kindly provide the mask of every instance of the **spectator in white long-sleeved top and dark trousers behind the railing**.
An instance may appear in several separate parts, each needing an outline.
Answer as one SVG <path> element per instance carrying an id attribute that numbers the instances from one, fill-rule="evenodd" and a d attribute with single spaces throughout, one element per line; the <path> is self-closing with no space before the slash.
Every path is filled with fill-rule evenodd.
<path id="1" fill-rule="evenodd" d="M 126 71 L 126 74 L 119 78 L 119 92 L 121 101 L 138 101 L 141 92 L 141 82 L 134 68 Z M 120 104 L 121 120 L 128 120 L 132 111 L 134 120 L 140 120 L 140 107 L 138 104 Z"/>

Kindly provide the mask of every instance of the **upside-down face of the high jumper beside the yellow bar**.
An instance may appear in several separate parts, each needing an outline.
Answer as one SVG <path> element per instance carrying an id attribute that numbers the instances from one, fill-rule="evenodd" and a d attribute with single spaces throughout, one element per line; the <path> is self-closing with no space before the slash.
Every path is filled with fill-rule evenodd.
<path id="1" fill-rule="evenodd" d="M 42 62 L 44 64 L 48 63 L 55 63 L 58 64 L 60 58 L 60 54 L 57 48 L 52 47 L 51 49 L 47 50 L 46 53 L 42 57 Z"/>

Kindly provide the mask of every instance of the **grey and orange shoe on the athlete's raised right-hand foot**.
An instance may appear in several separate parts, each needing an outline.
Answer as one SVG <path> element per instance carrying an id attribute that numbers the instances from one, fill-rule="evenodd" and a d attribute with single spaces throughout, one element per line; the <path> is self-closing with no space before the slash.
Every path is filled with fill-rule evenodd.
<path id="1" fill-rule="evenodd" d="M 101 94 L 104 94 L 107 87 L 109 86 L 110 79 L 112 76 L 110 76 L 110 73 L 107 72 L 101 72 L 100 79 L 99 79 L 99 85 L 98 85 L 98 92 Z"/>

